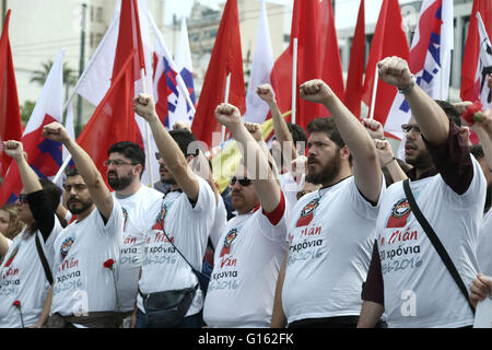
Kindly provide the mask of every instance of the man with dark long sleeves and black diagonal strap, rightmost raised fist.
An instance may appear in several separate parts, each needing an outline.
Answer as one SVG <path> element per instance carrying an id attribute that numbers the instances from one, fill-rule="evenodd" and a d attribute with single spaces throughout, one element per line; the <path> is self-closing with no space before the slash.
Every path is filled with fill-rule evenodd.
<path id="1" fill-rule="evenodd" d="M 478 271 L 475 247 L 482 221 L 485 179 L 470 156 L 458 110 L 433 101 L 398 57 L 378 62 L 379 78 L 398 88 L 412 116 L 406 162 L 417 205 L 469 289 Z M 389 327 L 466 327 L 472 310 L 412 212 L 402 182 L 389 186 L 376 222 L 376 245 L 363 288 L 359 327 L 385 312 Z"/>

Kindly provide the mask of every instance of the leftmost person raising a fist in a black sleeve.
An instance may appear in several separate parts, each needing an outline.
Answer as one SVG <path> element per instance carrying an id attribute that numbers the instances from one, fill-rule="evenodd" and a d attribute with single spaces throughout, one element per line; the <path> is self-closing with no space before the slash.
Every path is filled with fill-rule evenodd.
<path id="1" fill-rule="evenodd" d="M 23 188 L 16 207 L 25 225 L 13 241 L 0 232 L 0 328 L 39 328 L 48 318 L 51 288 L 39 254 L 49 270 L 54 242 L 62 231 L 55 215 L 60 189 L 49 179 L 38 178 L 24 156 L 22 142 L 5 141 L 3 151 L 19 167 Z M 21 302 L 22 318 L 13 305 L 15 301 Z"/>

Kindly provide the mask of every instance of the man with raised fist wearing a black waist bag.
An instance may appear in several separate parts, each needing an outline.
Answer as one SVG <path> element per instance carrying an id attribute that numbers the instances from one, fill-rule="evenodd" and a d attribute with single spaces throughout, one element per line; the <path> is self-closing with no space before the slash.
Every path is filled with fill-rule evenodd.
<path id="1" fill-rule="evenodd" d="M 195 136 L 188 130 L 167 131 L 155 112 L 151 95 L 136 97 L 133 109 L 149 122 L 160 152 L 161 179 L 171 185 L 169 192 L 159 203 L 157 219 L 149 218 L 153 226 L 144 238 L 136 327 L 201 327 L 203 291 L 189 264 L 201 270 L 207 238 L 215 218 L 215 196 L 207 180 L 189 166 L 199 152 L 198 144 L 192 144 Z M 203 170 L 208 168 L 204 164 Z M 186 298 L 191 295 L 191 304 L 183 306 L 186 311 L 184 317 L 173 319 L 172 326 L 169 323 L 150 323 L 144 301 L 176 293 Z M 160 306 L 173 305 L 161 303 Z"/>

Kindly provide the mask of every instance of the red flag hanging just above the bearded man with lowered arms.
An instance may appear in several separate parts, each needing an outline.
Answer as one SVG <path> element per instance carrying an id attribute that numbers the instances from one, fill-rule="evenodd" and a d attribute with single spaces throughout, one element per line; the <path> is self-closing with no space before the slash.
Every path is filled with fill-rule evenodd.
<path id="1" fill-rule="evenodd" d="M 107 150 L 113 143 L 138 141 L 132 105 L 134 52 L 136 50 L 127 56 L 119 73 L 113 79 L 112 86 L 77 139 L 77 142 L 91 155 L 103 175 L 107 170 L 103 163 L 107 159 Z M 107 185 L 106 176 L 103 177 Z"/>

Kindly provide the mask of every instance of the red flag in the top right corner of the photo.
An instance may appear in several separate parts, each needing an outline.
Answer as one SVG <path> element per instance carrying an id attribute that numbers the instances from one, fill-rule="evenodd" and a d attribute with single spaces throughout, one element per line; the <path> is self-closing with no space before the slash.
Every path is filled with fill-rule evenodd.
<path id="1" fill-rule="evenodd" d="M 476 101 L 479 100 L 480 96 L 480 86 L 476 83 L 477 63 L 480 55 L 477 11 L 480 12 L 480 15 L 482 16 L 487 34 L 492 38 L 492 1 L 475 0 L 461 63 L 460 97 L 462 101 Z"/>

